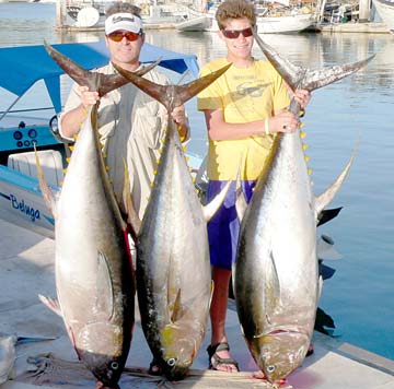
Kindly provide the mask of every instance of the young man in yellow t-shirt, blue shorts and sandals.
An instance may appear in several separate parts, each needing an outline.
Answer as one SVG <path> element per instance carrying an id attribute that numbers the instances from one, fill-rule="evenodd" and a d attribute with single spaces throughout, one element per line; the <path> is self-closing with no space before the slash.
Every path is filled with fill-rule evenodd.
<path id="1" fill-rule="evenodd" d="M 205 113 L 209 138 L 208 200 L 228 180 L 233 184 L 221 209 L 208 224 L 215 290 L 210 308 L 212 335 L 207 351 L 211 369 L 230 373 L 239 369 L 225 335 L 229 282 L 240 227 L 235 180 L 240 174 L 243 192 L 250 201 L 273 137 L 276 132 L 296 131 L 299 120 L 286 109 L 290 98 L 285 81 L 268 61 L 252 56 L 256 25 L 253 3 L 227 0 L 218 8 L 216 19 L 228 54 L 204 66 L 200 75 L 229 62 L 232 67 L 198 95 L 198 109 Z M 310 93 L 297 91 L 294 97 L 305 107 Z"/>

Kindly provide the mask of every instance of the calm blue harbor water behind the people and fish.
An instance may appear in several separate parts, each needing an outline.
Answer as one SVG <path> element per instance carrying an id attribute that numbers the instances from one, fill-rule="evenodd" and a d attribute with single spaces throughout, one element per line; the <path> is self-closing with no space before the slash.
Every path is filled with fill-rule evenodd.
<path id="1" fill-rule="evenodd" d="M 0 3 L 0 47 L 37 45 L 44 39 L 57 44 L 103 38 L 103 32 L 56 31 L 55 13 L 53 3 Z M 334 181 L 356 151 L 350 174 L 331 204 L 343 210 L 318 228 L 334 239 L 343 255 L 340 260 L 326 261 L 336 272 L 324 283 L 320 307 L 334 319 L 334 335 L 394 359 L 394 36 L 324 33 L 263 38 L 293 62 L 311 69 L 375 55 L 357 74 L 313 93 L 304 130 L 316 194 Z M 195 54 L 200 66 L 224 55 L 216 33 L 147 31 L 146 39 Z M 254 55 L 263 57 L 258 48 Z M 0 90 L 0 110 L 13 98 Z M 42 98 L 44 106 L 48 104 L 44 94 Z M 37 96 L 27 96 L 15 109 L 28 108 L 33 101 L 37 102 Z M 187 103 L 187 110 L 192 122 L 188 150 L 202 156 L 207 134 L 195 99 Z M 7 320 L 1 311 L 0 316 Z"/>

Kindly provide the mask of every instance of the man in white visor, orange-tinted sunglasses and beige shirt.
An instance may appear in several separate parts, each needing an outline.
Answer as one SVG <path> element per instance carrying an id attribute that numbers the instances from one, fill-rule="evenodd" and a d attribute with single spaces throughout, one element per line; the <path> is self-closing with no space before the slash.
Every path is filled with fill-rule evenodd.
<path id="1" fill-rule="evenodd" d="M 105 42 L 111 54 L 111 62 L 128 71 L 139 70 L 139 56 L 144 43 L 140 9 L 130 3 L 112 4 L 106 10 Z M 111 62 L 96 71 L 105 74 L 116 73 Z M 170 83 L 164 74 L 154 69 L 144 78 L 158 84 Z M 59 117 L 59 131 L 63 138 L 71 139 L 78 133 L 86 118 L 88 107 L 95 104 L 99 98 L 97 92 L 89 91 L 88 86 L 73 85 Z M 189 127 L 184 106 L 176 107 L 172 116 L 178 123 L 181 139 L 186 140 Z M 148 203 L 166 120 L 164 106 L 131 83 L 100 98 L 99 131 L 104 143 L 115 196 L 120 209 L 125 211 L 121 199 L 126 161 L 132 202 L 140 219 Z"/>

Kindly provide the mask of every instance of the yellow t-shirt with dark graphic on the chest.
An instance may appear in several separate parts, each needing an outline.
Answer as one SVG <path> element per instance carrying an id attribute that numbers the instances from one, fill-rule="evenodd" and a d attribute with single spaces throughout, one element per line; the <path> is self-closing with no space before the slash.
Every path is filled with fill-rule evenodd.
<path id="1" fill-rule="evenodd" d="M 213 72 L 225 64 L 225 58 L 207 63 L 200 75 Z M 223 111 L 225 122 L 244 123 L 274 116 L 289 105 L 283 80 L 274 67 L 255 60 L 250 68 L 232 66 L 224 74 L 198 94 L 198 110 Z M 209 139 L 208 177 L 213 180 L 254 180 L 260 174 L 269 149 L 270 135 L 254 135 L 240 140 L 212 141 Z M 241 169 L 240 169 L 241 167 Z"/>

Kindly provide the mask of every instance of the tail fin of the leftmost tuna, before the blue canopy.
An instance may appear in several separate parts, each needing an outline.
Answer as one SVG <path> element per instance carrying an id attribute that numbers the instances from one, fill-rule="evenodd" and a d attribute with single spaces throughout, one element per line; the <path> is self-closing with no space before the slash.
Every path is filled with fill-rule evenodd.
<path id="1" fill-rule="evenodd" d="M 104 96 L 108 92 L 126 85 L 129 82 L 121 74 L 103 74 L 85 70 L 72 59 L 66 57 L 60 51 L 48 45 L 46 42 L 44 42 L 44 46 L 49 56 L 58 63 L 61 69 L 65 70 L 68 75 L 70 75 L 73 81 L 76 81 L 79 85 L 89 86 L 90 91 L 97 91 L 100 96 Z M 159 62 L 160 60 L 142 68 L 137 72 L 137 74 L 146 74 Z"/>

